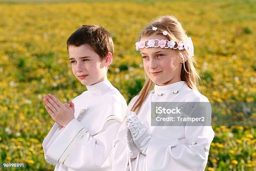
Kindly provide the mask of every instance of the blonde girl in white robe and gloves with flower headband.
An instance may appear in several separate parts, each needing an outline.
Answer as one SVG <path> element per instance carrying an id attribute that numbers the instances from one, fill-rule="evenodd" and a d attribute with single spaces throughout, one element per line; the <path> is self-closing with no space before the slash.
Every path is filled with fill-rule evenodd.
<path id="1" fill-rule="evenodd" d="M 162 16 L 144 27 L 138 39 L 136 50 L 147 78 L 113 143 L 112 171 L 205 170 L 214 137 L 211 126 L 151 126 L 151 102 L 210 104 L 197 90 L 200 77 L 193 66 L 191 38 L 175 17 Z"/>

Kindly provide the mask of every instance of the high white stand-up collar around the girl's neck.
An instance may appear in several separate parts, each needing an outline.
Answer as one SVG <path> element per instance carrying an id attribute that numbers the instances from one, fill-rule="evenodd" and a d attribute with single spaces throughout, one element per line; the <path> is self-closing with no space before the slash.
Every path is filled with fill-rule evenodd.
<path id="1" fill-rule="evenodd" d="M 175 82 L 165 86 L 159 86 L 155 84 L 154 91 L 155 92 L 177 92 L 178 90 L 180 91 L 181 88 L 184 89 L 185 87 L 187 87 L 187 84 L 184 81 Z"/>

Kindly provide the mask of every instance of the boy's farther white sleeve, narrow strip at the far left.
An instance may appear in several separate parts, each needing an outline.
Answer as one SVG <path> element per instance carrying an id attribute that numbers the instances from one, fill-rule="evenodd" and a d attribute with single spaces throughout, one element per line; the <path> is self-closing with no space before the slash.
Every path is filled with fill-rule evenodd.
<path id="1" fill-rule="evenodd" d="M 52 165 L 57 164 L 56 160 L 52 159 L 49 156 L 46 156 L 46 151 L 48 151 L 48 149 L 51 146 L 51 144 L 53 143 L 54 139 L 56 139 L 56 137 L 59 136 L 59 134 L 61 133 L 62 130 L 63 130 L 63 128 L 60 129 L 59 124 L 54 123 L 54 125 L 52 126 L 48 135 L 44 138 L 44 141 L 43 141 L 43 144 L 42 144 L 43 149 L 44 149 L 44 158 L 49 164 L 52 164 Z"/>

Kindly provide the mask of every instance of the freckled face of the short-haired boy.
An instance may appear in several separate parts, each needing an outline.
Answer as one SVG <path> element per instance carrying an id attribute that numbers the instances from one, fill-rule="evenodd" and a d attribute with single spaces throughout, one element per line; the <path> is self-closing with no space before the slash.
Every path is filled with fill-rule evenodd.
<path id="1" fill-rule="evenodd" d="M 100 56 L 90 45 L 69 47 L 69 60 L 74 76 L 83 85 L 92 85 L 107 79 L 105 60 L 100 61 Z"/>

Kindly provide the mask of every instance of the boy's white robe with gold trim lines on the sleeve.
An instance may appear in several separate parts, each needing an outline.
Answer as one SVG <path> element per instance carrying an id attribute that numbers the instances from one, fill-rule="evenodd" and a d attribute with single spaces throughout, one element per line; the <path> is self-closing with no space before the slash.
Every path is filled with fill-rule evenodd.
<path id="1" fill-rule="evenodd" d="M 108 81 L 92 86 L 72 101 L 75 119 L 60 129 L 55 123 L 43 141 L 44 156 L 55 171 L 109 171 L 108 156 L 127 110 L 124 97 Z M 78 121 L 80 111 L 88 106 Z"/>

